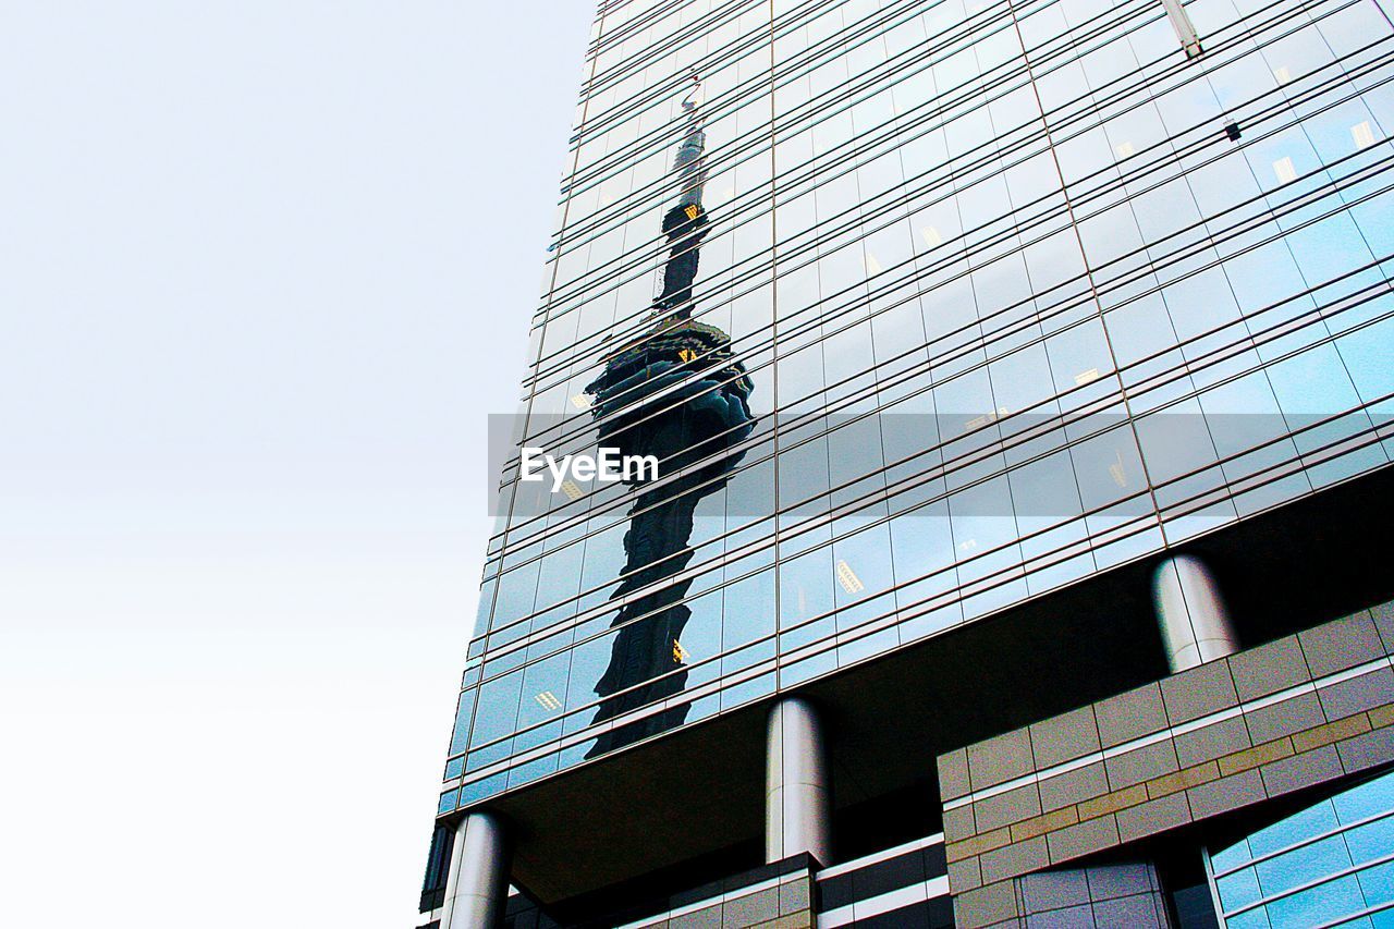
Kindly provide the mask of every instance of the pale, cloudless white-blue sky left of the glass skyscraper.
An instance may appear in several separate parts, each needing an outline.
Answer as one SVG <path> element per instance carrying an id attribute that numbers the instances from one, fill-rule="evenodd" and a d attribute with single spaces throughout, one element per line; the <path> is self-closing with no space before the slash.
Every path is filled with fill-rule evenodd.
<path id="1" fill-rule="evenodd" d="M 0 0 L 0 925 L 415 925 L 591 13 Z"/>

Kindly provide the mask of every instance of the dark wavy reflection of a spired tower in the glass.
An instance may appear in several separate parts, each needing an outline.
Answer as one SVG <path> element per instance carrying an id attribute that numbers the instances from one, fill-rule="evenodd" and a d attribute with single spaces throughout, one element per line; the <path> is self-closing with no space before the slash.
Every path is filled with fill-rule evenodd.
<path id="1" fill-rule="evenodd" d="M 744 367 L 732 358 L 730 336 L 691 319 L 693 280 L 707 234 L 701 195 L 707 172 L 701 85 L 682 102 L 682 144 L 673 160 L 677 202 L 664 213 L 668 240 L 664 290 L 654 301 L 652 329 L 620 347 L 585 389 L 599 427 L 599 444 L 620 455 L 654 455 L 659 481 L 638 492 L 625 533 L 625 568 L 611 600 L 658 587 L 626 603 L 609 665 L 595 683 L 601 704 L 594 724 L 666 700 L 687 685 L 683 603 L 691 579 L 661 586 L 691 561 L 693 513 L 701 498 L 725 487 L 743 452 L 728 452 L 754 428 Z M 698 462 L 707 460 L 700 467 Z M 684 469 L 687 470 L 686 473 Z M 668 476 L 677 477 L 668 478 Z M 634 484 L 647 481 L 636 480 Z M 682 725 L 690 703 L 666 706 L 604 732 L 585 753 L 595 757 L 648 735 Z"/>

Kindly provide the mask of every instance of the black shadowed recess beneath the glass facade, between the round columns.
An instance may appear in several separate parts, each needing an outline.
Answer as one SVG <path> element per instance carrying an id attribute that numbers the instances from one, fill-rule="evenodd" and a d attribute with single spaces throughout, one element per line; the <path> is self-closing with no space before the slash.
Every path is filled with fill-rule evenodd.
<path id="1" fill-rule="evenodd" d="M 1380 543 L 1391 518 L 1394 467 L 1384 467 L 1179 550 L 1211 565 L 1250 647 L 1394 597 Z M 937 755 L 1165 675 L 1150 603 L 1157 561 L 1093 575 L 797 688 L 825 717 L 835 812 L 919 788 L 937 805 Z M 489 801 L 513 827 L 513 882 L 558 904 L 758 848 L 768 703 Z"/>

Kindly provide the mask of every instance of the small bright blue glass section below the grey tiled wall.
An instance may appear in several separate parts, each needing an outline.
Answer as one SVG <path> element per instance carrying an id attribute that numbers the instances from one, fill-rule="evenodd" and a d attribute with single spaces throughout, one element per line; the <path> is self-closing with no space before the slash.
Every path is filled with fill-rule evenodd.
<path id="1" fill-rule="evenodd" d="M 1234 928 L 1394 926 L 1394 773 L 1210 855 Z"/>

